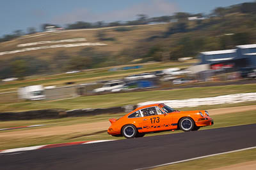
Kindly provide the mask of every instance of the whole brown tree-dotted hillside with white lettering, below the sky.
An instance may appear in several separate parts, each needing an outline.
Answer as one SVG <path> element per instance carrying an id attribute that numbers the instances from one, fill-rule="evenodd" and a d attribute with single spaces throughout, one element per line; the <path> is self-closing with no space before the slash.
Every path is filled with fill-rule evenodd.
<path id="1" fill-rule="evenodd" d="M 222 9 L 204 20 L 40 32 L 0 43 L 0 78 L 168 62 L 256 43 L 256 14 Z M 231 10 L 230 10 L 231 9 Z M 232 10 L 233 9 L 233 10 Z M 217 9 L 216 9 L 217 10 Z M 217 10 L 218 11 L 218 10 Z"/>

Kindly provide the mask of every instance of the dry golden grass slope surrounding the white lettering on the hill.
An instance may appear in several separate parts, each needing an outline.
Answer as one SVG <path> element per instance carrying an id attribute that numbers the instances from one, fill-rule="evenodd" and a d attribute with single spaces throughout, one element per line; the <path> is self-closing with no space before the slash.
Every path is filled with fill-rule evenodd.
<path id="1" fill-rule="evenodd" d="M 106 43 L 106 46 L 93 46 L 94 50 L 99 52 L 111 52 L 113 55 L 118 54 L 125 49 L 134 48 L 141 39 L 147 38 L 156 34 L 159 31 L 165 31 L 170 24 L 157 24 L 157 25 L 139 25 L 139 26 L 122 26 L 121 28 L 125 31 L 116 31 L 116 27 L 107 27 L 102 29 L 77 29 L 77 30 L 67 30 L 58 32 L 40 32 L 29 36 L 22 36 L 20 38 L 14 39 L 12 41 L 6 41 L 0 43 L 0 52 L 20 50 L 26 47 L 17 47 L 17 45 L 24 43 L 33 43 L 38 41 L 56 41 L 61 39 L 72 39 L 72 38 L 86 38 L 88 43 Z M 120 27 L 119 27 L 120 28 Z M 103 39 L 100 39 L 100 32 L 104 32 Z M 104 38 L 106 40 L 104 40 Z M 113 38 L 108 40 L 107 38 Z M 74 42 L 77 43 L 77 42 Z M 81 43 L 81 42 L 78 42 Z M 45 43 L 44 45 L 56 45 L 56 44 L 67 44 L 67 43 Z M 44 45 L 33 45 L 44 46 Z M 30 52 L 21 52 L 15 54 L 2 55 L 1 59 L 10 59 L 12 57 L 31 55 L 39 57 L 41 59 L 48 59 L 56 55 L 59 51 L 66 53 L 67 55 L 76 55 L 77 52 L 83 50 L 84 46 L 72 47 L 72 48 L 52 48 L 35 50 Z"/>

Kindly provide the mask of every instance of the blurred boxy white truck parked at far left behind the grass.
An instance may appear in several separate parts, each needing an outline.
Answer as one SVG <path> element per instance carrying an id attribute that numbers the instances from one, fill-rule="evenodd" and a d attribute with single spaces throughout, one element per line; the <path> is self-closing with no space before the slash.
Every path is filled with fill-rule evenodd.
<path id="1" fill-rule="evenodd" d="M 31 101 L 45 99 L 44 87 L 42 85 L 20 87 L 18 90 L 18 95 L 20 99 L 26 99 Z"/>

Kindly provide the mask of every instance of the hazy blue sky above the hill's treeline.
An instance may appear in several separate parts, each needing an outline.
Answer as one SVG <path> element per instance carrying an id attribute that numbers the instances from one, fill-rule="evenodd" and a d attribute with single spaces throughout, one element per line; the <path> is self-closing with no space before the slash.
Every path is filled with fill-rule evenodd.
<path id="1" fill-rule="evenodd" d="M 26 31 L 40 25 L 70 24 L 79 20 L 106 22 L 133 20 L 137 14 L 150 17 L 172 15 L 178 11 L 210 13 L 218 6 L 253 0 L 1 0 L 0 36 L 15 30 Z"/>

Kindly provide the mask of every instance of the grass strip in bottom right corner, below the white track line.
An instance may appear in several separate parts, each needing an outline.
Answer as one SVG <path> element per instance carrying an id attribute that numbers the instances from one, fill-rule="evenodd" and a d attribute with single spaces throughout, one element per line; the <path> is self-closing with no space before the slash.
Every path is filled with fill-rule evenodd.
<path id="1" fill-rule="evenodd" d="M 234 153 L 226 153 L 223 155 L 217 155 L 207 157 L 204 159 L 191 160 L 188 162 L 182 162 L 179 164 L 173 164 L 170 166 L 163 166 L 154 168 L 155 170 L 166 169 L 213 169 L 218 167 L 230 166 L 233 164 L 239 164 L 242 162 L 248 162 L 256 160 L 256 149 L 244 150 Z"/>

